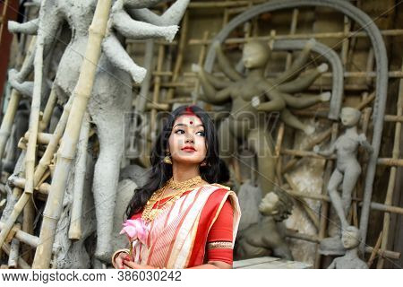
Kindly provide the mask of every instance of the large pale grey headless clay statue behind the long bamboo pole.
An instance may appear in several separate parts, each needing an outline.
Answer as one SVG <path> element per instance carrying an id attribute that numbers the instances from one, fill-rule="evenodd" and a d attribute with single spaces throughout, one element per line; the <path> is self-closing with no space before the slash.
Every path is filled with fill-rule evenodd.
<path id="1" fill-rule="evenodd" d="M 124 152 L 124 113 L 132 106 L 132 80 L 141 83 L 146 71 L 133 63 L 121 44 L 123 38 L 172 40 L 178 29 L 177 23 L 184 14 L 189 0 L 177 0 L 165 13 L 157 15 L 146 9 L 163 0 L 116 0 L 111 9 L 109 30 L 102 43 L 102 55 L 96 74 L 89 112 L 97 126 L 100 143 L 99 158 L 95 165 L 93 194 L 97 215 L 96 257 L 106 262 L 111 256 L 111 232 L 120 162 Z M 64 51 L 58 66 L 53 89 L 60 103 L 73 94 L 77 83 L 82 55 L 89 37 L 96 0 L 46 0 L 40 7 L 39 28 L 45 42 L 44 55 L 57 39 L 58 30 L 67 23 L 72 39 Z M 137 19 L 134 20 L 133 18 Z M 12 30 L 30 33 L 32 22 L 19 25 L 12 22 Z M 27 70 L 31 70 L 32 65 Z M 20 71 L 15 78 L 26 80 L 30 71 Z M 21 76 L 24 75 L 24 76 Z"/>

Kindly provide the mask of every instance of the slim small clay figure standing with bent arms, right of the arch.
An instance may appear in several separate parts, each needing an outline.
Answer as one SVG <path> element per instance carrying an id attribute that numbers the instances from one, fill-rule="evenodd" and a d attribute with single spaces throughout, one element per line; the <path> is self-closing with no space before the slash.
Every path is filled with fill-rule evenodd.
<path id="1" fill-rule="evenodd" d="M 330 156 L 333 152 L 337 152 L 336 170 L 331 174 L 328 192 L 331 204 L 341 222 L 341 229 L 346 229 L 349 225 L 347 214 L 351 206 L 351 196 L 354 187 L 356 187 L 356 181 L 361 174 L 361 166 L 356 159 L 358 146 L 362 145 L 367 152 L 373 152 L 373 148 L 367 142 L 365 135 L 358 135 L 357 124 L 360 117 L 361 112 L 358 109 L 341 109 L 341 123 L 346 126 L 344 135 L 339 136 L 336 142 L 330 145 L 330 149 L 326 151 L 320 151 L 317 145 L 313 148 L 313 152 L 323 156 Z M 342 189 L 341 197 L 338 192 L 340 185 Z M 323 254 L 329 255 L 343 254 L 344 248 L 340 242 L 340 234 L 338 233 L 332 238 L 322 239 L 321 251 Z"/>

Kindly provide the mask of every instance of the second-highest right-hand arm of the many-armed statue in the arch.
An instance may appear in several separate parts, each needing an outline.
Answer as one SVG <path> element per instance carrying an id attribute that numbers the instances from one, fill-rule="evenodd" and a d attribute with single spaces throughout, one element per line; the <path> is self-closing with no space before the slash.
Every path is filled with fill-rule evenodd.
<path id="1" fill-rule="evenodd" d="M 306 71 L 304 74 L 299 76 L 297 79 L 287 82 L 287 83 L 281 83 L 279 84 L 278 80 L 275 80 L 275 84 L 279 84 L 279 91 L 282 92 L 288 92 L 288 93 L 294 93 L 298 91 L 304 91 L 309 86 L 315 82 L 315 80 L 323 73 L 328 71 L 329 65 L 323 63 L 321 65 L 318 65 L 314 69 L 310 69 Z"/>

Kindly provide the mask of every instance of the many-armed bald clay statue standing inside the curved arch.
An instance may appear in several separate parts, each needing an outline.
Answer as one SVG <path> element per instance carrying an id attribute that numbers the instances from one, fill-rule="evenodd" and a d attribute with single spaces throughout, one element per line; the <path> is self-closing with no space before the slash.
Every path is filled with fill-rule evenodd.
<path id="1" fill-rule="evenodd" d="M 309 87 L 327 70 L 327 65 L 320 65 L 296 79 L 314 45 L 314 40 L 310 40 L 293 65 L 279 78 L 270 81 L 264 77 L 264 70 L 270 59 L 270 48 L 262 42 L 252 41 L 244 45 L 242 60 L 249 70 L 244 77 L 229 63 L 219 44 L 213 45 L 217 49 L 219 66 L 231 81 L 222 81 L 199 66 L 193 65 L 193 70 L 198 72 L 203 88 L 201 100 L 216 105 L 232 102 L 230 117 L 219 126 L 220 155 L 229 163 L 231 155 L 236 152 L 238 141 L 246 142 L 253 152 L 258 154 L 259 181 L 264 196 L 272 190 L 275 167 L 275 159 L 272 156 L 273 140 L 265 126 L 265 113 L 280 112 L 281 119 L 288 126 L 312 134 L 313 126 L 301 123 L 291 114 L 287 106 L 296 109 L 309 107 L 330 100 L 330 93 L 301 97 L 294 97 L 289 93 L 303 91 Z"/>

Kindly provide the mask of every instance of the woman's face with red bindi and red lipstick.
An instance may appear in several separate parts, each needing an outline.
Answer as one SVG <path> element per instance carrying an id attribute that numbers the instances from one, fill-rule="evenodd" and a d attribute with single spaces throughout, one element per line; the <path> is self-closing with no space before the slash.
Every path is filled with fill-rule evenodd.
<path id="1" fill-rule="evenodd" d="M 201 119 L 195 115 L 176 118 L 168 138 L 172 162 L 199 164 L 206 157 L 206 138 Z"/>

